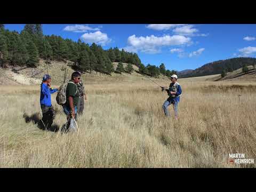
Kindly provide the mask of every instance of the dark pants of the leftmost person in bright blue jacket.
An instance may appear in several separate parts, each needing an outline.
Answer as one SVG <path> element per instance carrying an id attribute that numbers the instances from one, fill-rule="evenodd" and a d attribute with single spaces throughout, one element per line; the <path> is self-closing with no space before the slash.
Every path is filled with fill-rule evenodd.
<path id="1" fill-rule="evenodd" d="M 44 129 L 49 129 L 52 126 L 53 119 L 55 118 L 55 111 L 52 106 L 41 105 L 43 118 L 39 121 L 38 125 Z"/>

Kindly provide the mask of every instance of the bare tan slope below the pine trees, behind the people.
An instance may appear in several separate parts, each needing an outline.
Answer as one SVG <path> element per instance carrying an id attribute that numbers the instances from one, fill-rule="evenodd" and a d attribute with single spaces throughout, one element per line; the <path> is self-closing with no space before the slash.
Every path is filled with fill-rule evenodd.
<path id="1" fill-rule="evenodd" d="M 113 63 L 114 68 L 116 69 L 118 63 Z M 127 63 L 123 63 L 124 67 L 127 66 Z M 60 85 L 64 81 L 64 75 L 65 70 L 67 68 L 67 76 L 66 79 L 69 79 L 71 77 L 71 74 L 75 71 L 71 68 L 71 65 L 67 65 L 67 63 L 62 61 L 51 61 L 51 63 L 48 64 L 48 71 L 49 74 L 52 77 L 52 84 L 53 85 Z M 136 82 L 136 81 L 148 81 L 146 76 L 143 76 L 136 71 L 139 70 L 139 68 L 135 65 L 133 65 L 133 73 L 122 73 L 122 74 L 116 74 L 111 73 L 110 75 L 107 74 L 101 74 L 97 73 L 96 71 L 92 71 L 92 73 L 83 73 L 82 79 L 85 82 L 85 84 L 106 84 L 109 82 Z M 9 69 L 0 69 L 1 71 L 1 79 L 0 84 L 3 82 L 4 76 L 9 77 L 10 81 L 5 81 L 5 85 L 38 85 L 42 82 L 42 76 L 44 74 L 47 74 L 47 66 L 44 60 L 39 61 L 39 65 L 37 68 L 25 68 L 22 70 L 19 70 L 19 74 L 14 73 L 11 71 L 11 68 Z M 31 77 L 33 76 L 33 77 Z M 151 77 L 150 77 L 151 78 Z M 155 81 L 170 81 L 166 76 L 160 75 L 159 78 L 152 78 Z"/>

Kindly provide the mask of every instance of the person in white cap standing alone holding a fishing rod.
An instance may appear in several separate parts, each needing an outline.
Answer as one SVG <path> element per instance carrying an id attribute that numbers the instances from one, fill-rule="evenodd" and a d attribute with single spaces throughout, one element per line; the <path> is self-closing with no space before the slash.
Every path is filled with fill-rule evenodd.
<path id="1" fill-rule="evenodd" d="M 177 79 L 178 79 L 177 75 L 175 74 L 172 75 L 171 76 L 172 83 L 170 84 L 169 89 L 165 89 L 165 87 L 162 87 L 162 91 L 167 91 L 169 95 L 169 98 L 163 104 L 164 114 L 166 116 L 170 116 L 168 107 L 172 104 L 175 119 L 178 119 L 178 103 L 180 102 L 180 95 L 182 93 L 181 86 L 177 82 Z"/>

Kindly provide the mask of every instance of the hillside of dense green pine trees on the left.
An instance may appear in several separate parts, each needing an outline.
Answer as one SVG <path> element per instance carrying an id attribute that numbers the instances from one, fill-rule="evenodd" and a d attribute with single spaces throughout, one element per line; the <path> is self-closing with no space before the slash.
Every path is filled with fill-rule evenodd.
<path id="1" fill-rule="evenodd" d="M 111 74 L 132 73 L 132 65 L 139 67 L 138 73 L 158 77 L 159 75 L 171 76 L 177 71 L 165 69 L 164 63 L 159 67 L 141 63 L 137 53 L 126 52 L 118 47 L 110 47 L 103 50 L 100 45 L 92 43 L 86 44 L 78 39 L 74 42 L 71 39 L 64 39 L 57 35 L 44 35 L 41 24 L 26 24 L 21 33 L 4 29 L 0 25 L 0 64 L 4 68 L 6 65 L 13 67 L 36 68 L 39 59 L 51 61 L 71 61 L 74 69 L 81 71 L 92 70 Z M 119 67 L 115 71 L 113 62 L 118 62 Z M 122 63 L 129 63 L 125 69 Z"/>

